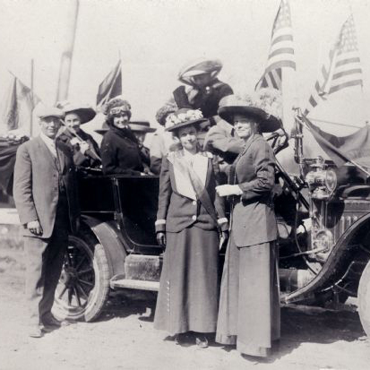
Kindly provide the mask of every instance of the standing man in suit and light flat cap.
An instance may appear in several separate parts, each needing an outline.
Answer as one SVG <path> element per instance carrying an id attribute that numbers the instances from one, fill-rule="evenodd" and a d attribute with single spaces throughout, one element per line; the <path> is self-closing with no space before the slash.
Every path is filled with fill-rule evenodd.
<path id="1" fill-rule="evenodd" d="M 17 151 L 13 195 L 24 227 L 26 298 L 30 337 L 62 325 L 51 314 L 68 233 L 76 232 L 79 206 L 73 155 L 56 133 L 64 117 L 58 108 L 39 108 L 38 137 Z"/>

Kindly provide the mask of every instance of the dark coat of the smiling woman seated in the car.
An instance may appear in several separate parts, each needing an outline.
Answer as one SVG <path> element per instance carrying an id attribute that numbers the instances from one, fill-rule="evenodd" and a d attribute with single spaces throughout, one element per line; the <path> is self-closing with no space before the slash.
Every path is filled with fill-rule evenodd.
<path id="1" fill-rule="evenodd" d="M 110 128 L 100 152 L 104 174 L 140 175 L 144 169 L 139 145 L 129 129 Z"/>

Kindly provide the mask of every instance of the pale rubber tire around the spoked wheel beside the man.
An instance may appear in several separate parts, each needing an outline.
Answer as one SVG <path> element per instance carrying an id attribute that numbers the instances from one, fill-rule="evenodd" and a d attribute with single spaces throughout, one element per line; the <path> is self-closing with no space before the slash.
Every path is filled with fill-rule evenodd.
<path id="1" fill-rule="evenodd" d="M 99 317 L 108 301 L 111 272 L 104 247 L 99 244 L 90 228 L 82 227 L 77 236 L 69 237 L 69 245 L 75 245 L 76 243 L 80 243 L 89 255 L 95 275 L 95 284 L 90 290 L 87 305 L 83 310 L 70 309 L 66 303 L 61 304 L 56 298 L 53 305 L 53 314 L 59 320 L 91 322 Z"/>

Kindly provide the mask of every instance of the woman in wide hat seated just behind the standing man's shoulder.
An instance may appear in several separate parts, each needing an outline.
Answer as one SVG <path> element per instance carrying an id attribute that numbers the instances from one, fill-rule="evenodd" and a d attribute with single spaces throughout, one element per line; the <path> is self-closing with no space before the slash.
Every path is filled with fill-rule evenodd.
<path id="1" fill-rule="evenodd" d="M 58 105 L 65 112 L 65 130 L 58 135 L 58 140 L 65 142 L 73 150 L 76 166 L 95 168 L 101 164 L 99 145 L 89 133 L 85 133 L 81 125 L 91 121 L 96 112 L 87 104 Z"/>

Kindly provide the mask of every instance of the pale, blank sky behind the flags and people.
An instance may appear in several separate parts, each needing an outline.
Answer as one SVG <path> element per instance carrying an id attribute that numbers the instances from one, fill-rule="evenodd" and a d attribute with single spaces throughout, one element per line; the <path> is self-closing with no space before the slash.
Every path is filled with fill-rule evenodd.
<path id="1" fill-rule="evenodd" d="M 176 88 L 180 67 L 198 56 L 218 57 L 224 64 L 220 79 L 234 90 L 252 91 L 266 64 L 279 5 L 280 0 L 80 0 L 69 98 L 94 105 L 99 83 L 119 55 L 123 94 L 132 104 L 133 119 L 145 118 L 151 125 Z M 0 95 L 8 87 L 8 70 L 30 84 L 33 58 L 35 92 L 53 104 L 72 2 L 0 0 L 0 6 Z M 305 106 L 350 6 L 363 92 L 358 87 L 339 92 L 312 116 L 364 125 L 370 121 L 370 0 L 290 0 L 297 102 Z M 331 126 L 330 131 L 337 129 Z"/>

